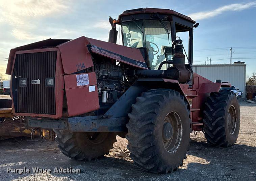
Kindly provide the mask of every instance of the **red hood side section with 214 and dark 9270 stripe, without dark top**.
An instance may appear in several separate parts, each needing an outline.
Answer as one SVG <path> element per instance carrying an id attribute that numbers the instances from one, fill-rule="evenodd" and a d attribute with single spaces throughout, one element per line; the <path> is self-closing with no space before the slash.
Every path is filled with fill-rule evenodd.
<path id="1" fill-rule="evenodd" d="M 148 69 L 138 49 L 81 36 L 57 46 L 65 74 L 93 66 L 93 54 L 99 54 L 138 68 Z"/>

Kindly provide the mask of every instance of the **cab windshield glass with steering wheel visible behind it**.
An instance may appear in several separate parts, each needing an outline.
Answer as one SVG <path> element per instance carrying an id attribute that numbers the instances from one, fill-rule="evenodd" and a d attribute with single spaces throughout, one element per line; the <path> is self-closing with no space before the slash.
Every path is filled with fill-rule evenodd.
<path id="1" fill-rule="evenodd" d="M 151 69 L 158 69 L 166 61 L 164 46 L 171 46 L 171 24 L 169 21 L 140 20 L 122 23 L 124 46 L 146 48 Z M 166 64 L 162 69 L 166 69 Z"/>

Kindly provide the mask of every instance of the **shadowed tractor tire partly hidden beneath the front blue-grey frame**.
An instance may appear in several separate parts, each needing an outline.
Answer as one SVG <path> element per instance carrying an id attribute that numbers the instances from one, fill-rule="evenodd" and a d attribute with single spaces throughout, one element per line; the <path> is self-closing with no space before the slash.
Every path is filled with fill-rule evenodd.
<path id="1" fill-rule="evenodd" d="M 70 132 L 54 130 L 62 153 L 76 160 L 92 160 L 107 155 L 117 142 L 114 132 Z"/>

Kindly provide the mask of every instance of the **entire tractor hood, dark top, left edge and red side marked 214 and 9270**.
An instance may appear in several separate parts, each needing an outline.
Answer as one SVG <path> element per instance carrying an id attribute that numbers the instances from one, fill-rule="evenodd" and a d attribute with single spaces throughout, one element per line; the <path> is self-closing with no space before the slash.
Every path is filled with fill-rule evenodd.
<path id="1" fill-rule="evenodd" d="M 138 49 L 118 44 L 100 41 L 81 36 L 69 39 L 47 39 L 10 50 L 6 74 L 11 74 L 15 53 L 22 50 L 34 50 L 57 47 L 65 74 L 71 74 L 93 66 L 93 54 L 117 60 L 131 66 L 148 69 L 145 60 Z"/>

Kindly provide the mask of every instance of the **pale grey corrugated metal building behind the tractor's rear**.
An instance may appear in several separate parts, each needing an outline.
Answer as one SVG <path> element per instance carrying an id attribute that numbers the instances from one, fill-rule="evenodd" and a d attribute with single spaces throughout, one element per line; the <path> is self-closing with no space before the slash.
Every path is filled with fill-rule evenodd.
<path id="1" fill-rule="evenodd" d="M 193 65 L 193 71 L 212 82 L 215 82 L 216 79 L 221 79 L 222 82 L 230 82 L 237 89 L 244 92 L 243 97 L 246 97 L 246 64 L 244 62 Z"/>

